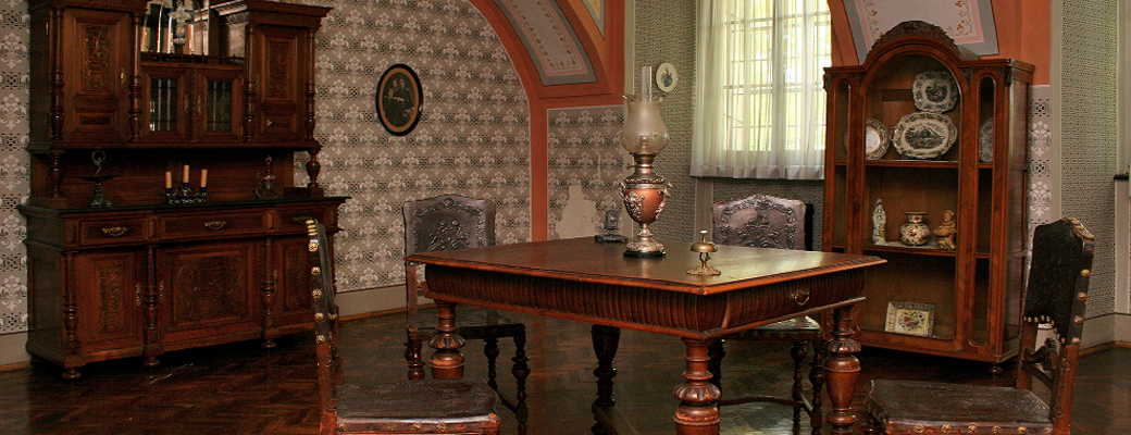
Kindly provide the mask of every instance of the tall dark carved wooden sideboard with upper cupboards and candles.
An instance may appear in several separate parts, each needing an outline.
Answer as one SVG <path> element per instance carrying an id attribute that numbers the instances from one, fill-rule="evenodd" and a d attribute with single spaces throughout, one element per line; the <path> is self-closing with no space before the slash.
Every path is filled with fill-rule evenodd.
<path id="1" fill-rule="evenodd" d="M 154 5 L 28 5 L 27 350 L 64 377 L 311 328 L 304 220 L 333 234 L 346 200 L 318 185 L 313 139 L 314 34 L 330 9 Z"/>

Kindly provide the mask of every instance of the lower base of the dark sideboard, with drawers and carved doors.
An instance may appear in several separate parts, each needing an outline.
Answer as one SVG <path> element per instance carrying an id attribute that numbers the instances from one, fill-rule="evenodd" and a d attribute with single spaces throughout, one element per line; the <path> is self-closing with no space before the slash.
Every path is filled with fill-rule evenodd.
<path id="1" fill-rule="evenodd" d="M 305 219 L 337 228 L 344 198 L 248 203 L 21 207 L 27 350 L 77 377 L 87 363 L 273 339 L 311 328 Z"/>

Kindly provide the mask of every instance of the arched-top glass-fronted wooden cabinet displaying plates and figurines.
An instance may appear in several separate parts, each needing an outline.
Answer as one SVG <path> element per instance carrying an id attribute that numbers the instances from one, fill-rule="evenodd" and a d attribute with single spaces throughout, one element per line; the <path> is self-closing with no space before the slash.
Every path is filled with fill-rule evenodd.
<path id="1" fill-rule="evenodd" d="M 826 70 L 823 246 L 888 261 L 855 312 L 861 343 L 992 371 L 1017 354 L 1033 70 L 922 21 Z"/>

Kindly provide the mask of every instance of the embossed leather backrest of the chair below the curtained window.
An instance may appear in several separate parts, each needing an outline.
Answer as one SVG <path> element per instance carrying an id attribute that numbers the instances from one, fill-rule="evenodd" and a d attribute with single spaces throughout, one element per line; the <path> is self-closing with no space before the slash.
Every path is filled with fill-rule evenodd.
<path id="1" fill-rule="evenodd" d="M 754 194 L 711 206 L 711 238 L 720 245 L 809 250 L 811 219 L 800 200 Z"/>

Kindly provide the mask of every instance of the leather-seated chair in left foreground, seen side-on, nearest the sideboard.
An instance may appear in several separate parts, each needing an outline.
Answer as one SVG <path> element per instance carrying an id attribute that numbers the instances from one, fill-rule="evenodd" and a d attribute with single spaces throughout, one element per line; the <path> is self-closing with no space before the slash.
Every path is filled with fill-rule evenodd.
<path id="1" fill-rule="evenodd" d="M 485 383 L 428 380 L 375 385 L 343 385 L 338 357 L 338 308 L 334 264 L 326 228 L 307 220 L 314 346 L 318 355 L 320 435 L 333 434 L 489 434 L 498 435 L 499 398 Z"/>

